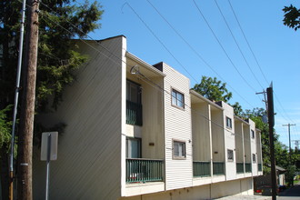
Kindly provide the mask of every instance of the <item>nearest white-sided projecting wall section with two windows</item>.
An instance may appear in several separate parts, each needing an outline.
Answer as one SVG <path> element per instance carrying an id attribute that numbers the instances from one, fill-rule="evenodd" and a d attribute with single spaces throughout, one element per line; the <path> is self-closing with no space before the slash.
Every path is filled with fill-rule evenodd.
<path id="1" fill-rule="evenodd" d="M 192 128 L 189 79 L 164 64 L 165 76 L 165 187 L 166 190 L 192 186 Z M 171 104 L 171 90 L 185 95 L 185 109 Z M 185 142 L 185 159 L 173 158 L 173 140 Z"/>

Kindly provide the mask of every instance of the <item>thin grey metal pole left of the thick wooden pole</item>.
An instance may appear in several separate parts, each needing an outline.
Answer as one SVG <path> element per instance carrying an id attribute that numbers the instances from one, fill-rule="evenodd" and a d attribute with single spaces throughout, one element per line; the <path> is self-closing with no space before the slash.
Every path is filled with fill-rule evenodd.
<path id="1" fill-rule="evenodd" d="M 17 105 L 19 99 L 19 89 L 20 89 L 20 77 L 21 77 L 21 67 L 22 67 L 22 55 L 23 55 L 23 41 L 24 41 L 24 24 L 25 24 L 25 7 L 26 0 L 23 0 L 22 5 L 22 18 L 21 18 L 21 27 L 20 27 L 20 41 L 19 41 L 19 55 L 16 69 L 16 83 L 15 83 L 15 105 L 14 105 L 14 114 L 13 114 L 13 128 L 12 128 L 12 138 L 10 145 L 10 159 L 9 159 L 9 199 L 14 199 L 14 150 L 15 150 L 15 121 L 17 114 Z"/>

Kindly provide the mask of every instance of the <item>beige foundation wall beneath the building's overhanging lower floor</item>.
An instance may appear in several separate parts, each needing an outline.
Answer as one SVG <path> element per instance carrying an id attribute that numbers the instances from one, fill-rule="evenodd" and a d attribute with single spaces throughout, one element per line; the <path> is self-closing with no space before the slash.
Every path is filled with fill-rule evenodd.
<path id="1" fill-rule="evenodd" d="M 162 193 L 123 197 L 120 200 L 201 200 L 227 195 L 253 195 L 252 178 L 221 182 L 213 185 L 201 185 L 189 188 L 169 190 Z"/>

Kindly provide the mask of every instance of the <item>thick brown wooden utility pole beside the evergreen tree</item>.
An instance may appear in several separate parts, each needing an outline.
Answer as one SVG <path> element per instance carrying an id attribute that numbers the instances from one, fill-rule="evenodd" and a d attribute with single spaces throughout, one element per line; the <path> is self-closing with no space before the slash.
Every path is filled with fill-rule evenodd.
<path id="1" fill-rule="evenodd" d="M 31 200 L 39 1 L 28 0 L 23 98 L 18 137 L 17 199 Z"/>

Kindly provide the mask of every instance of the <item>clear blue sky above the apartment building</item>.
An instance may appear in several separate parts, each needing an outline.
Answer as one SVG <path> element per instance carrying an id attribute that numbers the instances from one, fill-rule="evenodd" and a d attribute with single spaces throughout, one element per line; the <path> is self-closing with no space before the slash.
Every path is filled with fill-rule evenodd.
<path id="1" fill-rule="evenodd" d="M 282 22 L 284 6 L 300 8 L 299 0 L 99 2 L 105 10 L 102 27 L 91 37 L 125 35 L 129 52 L 152 65 L 171 65 L 190 78 L 191 87 L 202 75 L 217 77 L 233 93 L 230 103 L 243 109 L 265 107 L 264 95 L 255 93 L 273 81 L 279 139 L 288 145 L 283 125 L 290 123 L 296 124 L 291 140 L 300 140 L 300 30 Z"/>

